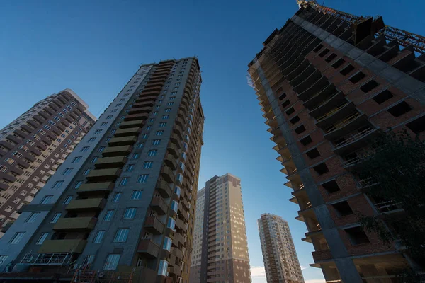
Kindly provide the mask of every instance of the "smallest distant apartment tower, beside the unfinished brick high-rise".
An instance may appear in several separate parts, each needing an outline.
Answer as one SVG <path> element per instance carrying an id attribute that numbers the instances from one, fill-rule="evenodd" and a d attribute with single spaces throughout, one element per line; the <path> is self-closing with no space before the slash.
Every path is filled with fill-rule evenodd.
<path id="1" fill-rule="evenodd" d="M 304 283 L 288 222 L 266 213 L 258 223 L 267 283 Z"/>

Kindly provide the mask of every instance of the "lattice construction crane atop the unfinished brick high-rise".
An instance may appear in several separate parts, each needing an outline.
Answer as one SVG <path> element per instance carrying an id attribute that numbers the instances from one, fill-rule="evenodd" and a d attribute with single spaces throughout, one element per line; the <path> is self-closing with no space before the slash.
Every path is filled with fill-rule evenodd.
<path id="1" fill-rule="evenodd" d="M 341 12 L 333 8 L 325 7 L 317 3 L 316 0 L 296 0 L 300 8 L 312 8 L 320 13 L 326 13 L 336 18 L 346 21 L 347 23 L 355 24 L 362 23 L 363 21 L 369 20 L 370 16 L 354 16 L 350 13 Z M 388 41 L 397 40 L 399 45 L 404 47 L 412 46 L 414 51 L 425 54 L 425 37 L 409 33 L 406 30 L 400 30 L 393 28 L 389 25 L 384 25 L 383 28 L 377 30 L 375 35 L 385 35 L 385 39 Z"/>

